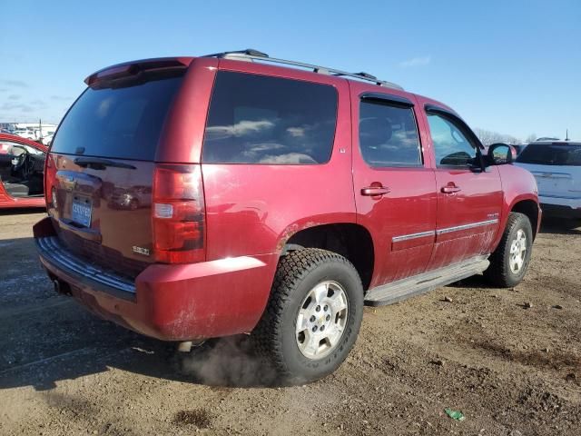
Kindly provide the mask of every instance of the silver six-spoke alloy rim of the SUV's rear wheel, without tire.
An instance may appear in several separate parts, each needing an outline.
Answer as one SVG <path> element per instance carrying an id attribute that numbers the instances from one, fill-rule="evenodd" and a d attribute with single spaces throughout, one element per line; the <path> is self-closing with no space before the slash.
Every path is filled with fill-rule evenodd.
<path id="1" fill-rule="evenodd" d="M 297 316 L 296 340 L 308 359 L 321 359 L 340 342 L 347 323 L 347 292 L 338 282 L 320 282 L 307 293 Z"/>

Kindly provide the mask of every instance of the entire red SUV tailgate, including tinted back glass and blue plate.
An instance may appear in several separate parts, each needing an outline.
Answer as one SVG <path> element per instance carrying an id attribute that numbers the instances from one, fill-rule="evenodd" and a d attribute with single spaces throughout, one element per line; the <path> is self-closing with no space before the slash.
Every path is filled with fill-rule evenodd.
<path id="1" fill-rule="evenodd" d="M 71 252 L 129 277 L 153 262 L 153 161 L 182 75 L 173 68 L 92 84 L 64 117 L 46 196 Z"/>

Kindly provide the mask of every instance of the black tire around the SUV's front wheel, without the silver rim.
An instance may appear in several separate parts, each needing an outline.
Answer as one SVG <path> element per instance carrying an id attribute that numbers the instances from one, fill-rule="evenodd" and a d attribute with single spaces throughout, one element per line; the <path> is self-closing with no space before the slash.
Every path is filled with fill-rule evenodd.
<path id="1" fill-rule="evenodd" d="M 513 272 L 510 268 L 510 248 L 517 238 L 517 233 L 522 230 L 526 235 L 525 259 L 523 266 Z M 490 266 L 484 272 L 484 276 L 489 282 L 499 288 L 511 288 L 523 280 L 527 273 L 528 264 L 533 248 L 533 229 L 527 215 L 523 213 L 511 212 L 508 215 L 507 227 L 502 234 L 502 239 L 498 243 L 497 249 L 490 255 Z"/>

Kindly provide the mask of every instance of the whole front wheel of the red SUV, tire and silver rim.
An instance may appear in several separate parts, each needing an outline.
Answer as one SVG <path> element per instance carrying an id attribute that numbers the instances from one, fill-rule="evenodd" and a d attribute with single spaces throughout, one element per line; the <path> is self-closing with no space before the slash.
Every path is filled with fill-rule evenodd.
<path id="1" fill-rule="evenodd" d="M 533 230 L 527 215 L 511 212 L 502 239 L 490 255 L 485 277 L 501 288 L 516 286 L 527 273 L 532 248 Z"/>

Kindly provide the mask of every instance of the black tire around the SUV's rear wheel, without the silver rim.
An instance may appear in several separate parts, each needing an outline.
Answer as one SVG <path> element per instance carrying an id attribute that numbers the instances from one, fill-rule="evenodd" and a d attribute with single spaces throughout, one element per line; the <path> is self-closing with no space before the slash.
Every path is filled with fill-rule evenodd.
<path id="1" fill-rule="evenodd" d="M 342 287 L 347 297 L 347 321 L 329 354 L 310 359 L 297 343 L 297 317 L 309 292 L 325 281 Z M 281 258 L 270 300 L 251 337 L 255 351 L 276 372 L 275 384 L 316 381 L 337 370 L 345 360 L 357 339 L 362 316 L 363 287 L 355 267 L 337 253 L 303 249 Z"/>

